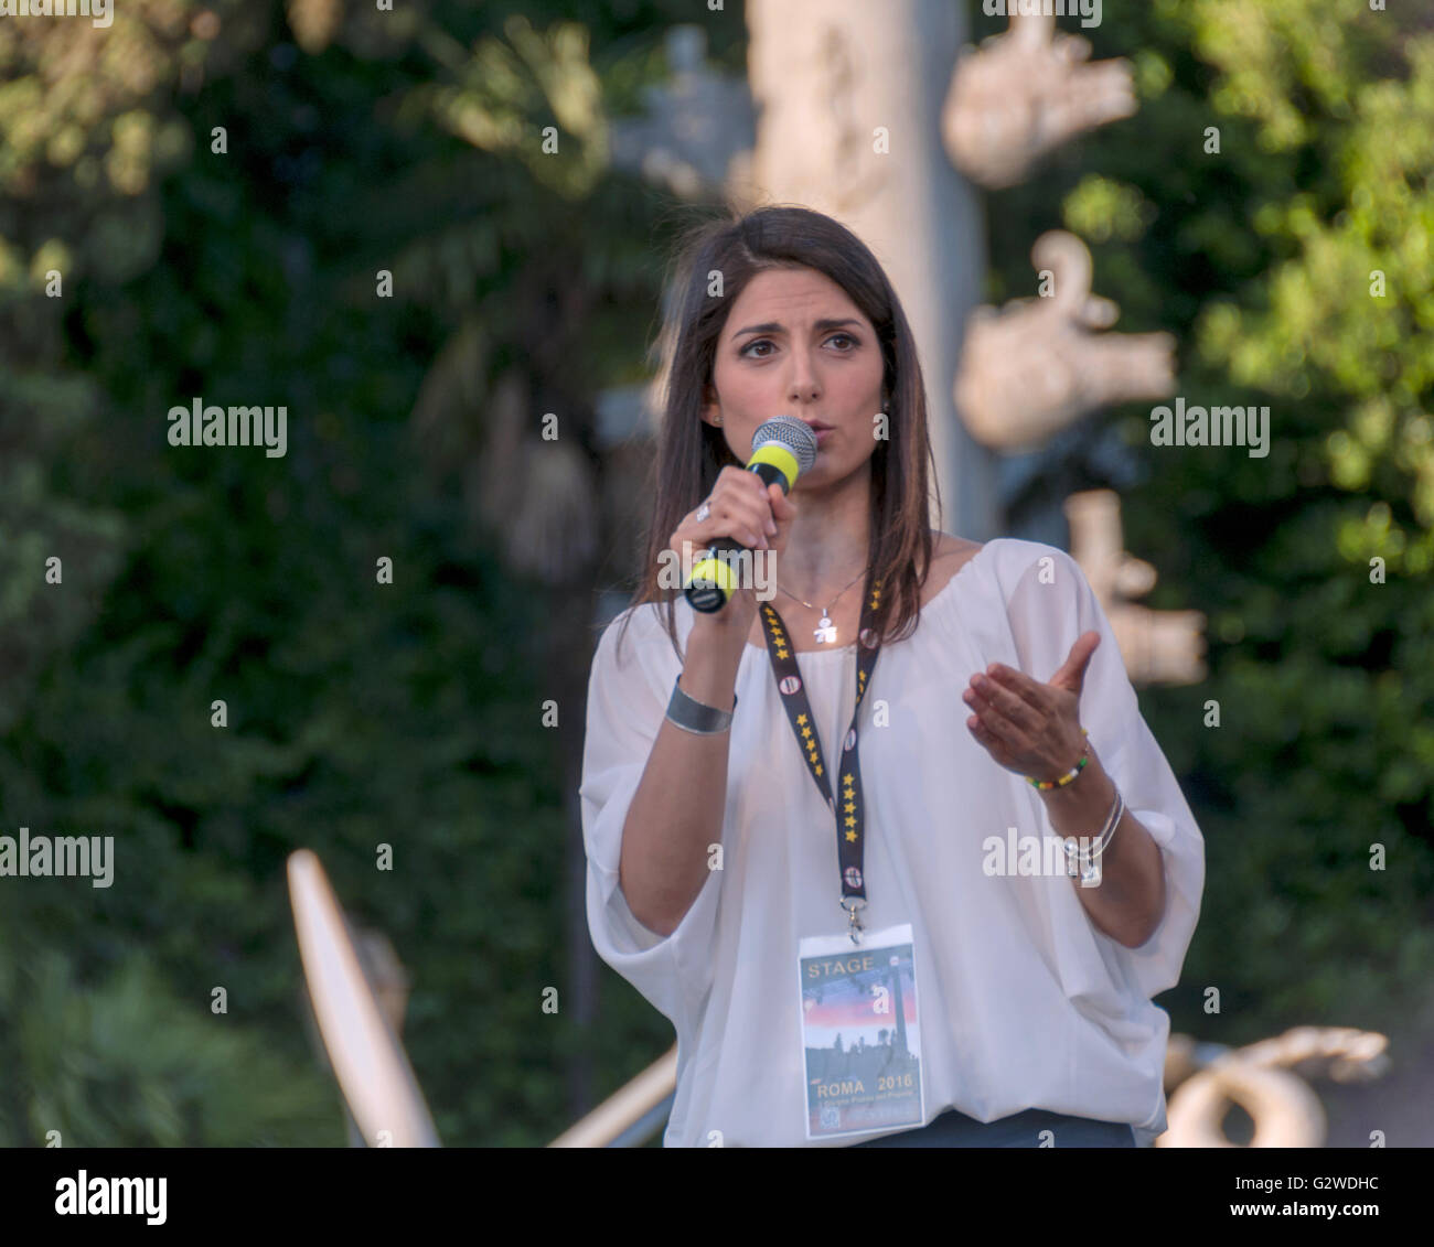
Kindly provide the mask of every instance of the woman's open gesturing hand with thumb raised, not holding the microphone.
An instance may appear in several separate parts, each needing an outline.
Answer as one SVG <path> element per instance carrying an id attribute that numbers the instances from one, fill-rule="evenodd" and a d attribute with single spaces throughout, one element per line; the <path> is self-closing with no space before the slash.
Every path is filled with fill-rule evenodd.
<path id="1" fill-rule="evenodd" d="M 1086 752 L 1080 728 L 1080 691 L 1086 666 L 1100 645 L 1098 632 L 1076 638 L 1050 684 L 1001 662 L 971 677 L 961 695 L 975 714 L 967 727 L 1008 771 L 1035 780 L 1057 780 Z"/>

